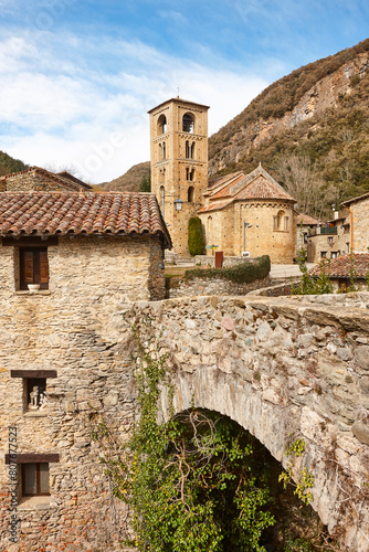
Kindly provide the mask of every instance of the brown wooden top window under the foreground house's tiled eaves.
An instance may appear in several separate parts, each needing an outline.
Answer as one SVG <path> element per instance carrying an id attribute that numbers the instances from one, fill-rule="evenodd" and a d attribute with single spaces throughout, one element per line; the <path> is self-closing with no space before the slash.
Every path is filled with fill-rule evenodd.
<path id="1" fill-rule="evenodd" d="M 48 247 L 20 247 L 20 289 L 29 284 L 39 284 L 40 289 L 49 289 Z"/>

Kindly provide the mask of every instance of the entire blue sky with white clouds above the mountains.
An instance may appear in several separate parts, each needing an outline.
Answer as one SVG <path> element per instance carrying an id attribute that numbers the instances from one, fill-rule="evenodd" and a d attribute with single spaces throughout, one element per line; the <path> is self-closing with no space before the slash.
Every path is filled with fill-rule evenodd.
<path id="1" fill-rule="evenodd" d="M 0 150 L 109 181 L 149 160 L 161 102 L 209 105 L 211 135 L 368 31 L 368 0 L 0 0 Z"/>

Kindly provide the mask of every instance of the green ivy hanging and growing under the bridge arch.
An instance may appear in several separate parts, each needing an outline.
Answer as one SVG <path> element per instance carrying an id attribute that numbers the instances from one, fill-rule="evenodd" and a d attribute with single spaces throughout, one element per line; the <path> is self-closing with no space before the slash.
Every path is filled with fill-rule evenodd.
<path id="1" fill-rule="evenodd" d="M 131 510 L 128 543 L 143 552 L 265 552 L 262 533 L 275 519 L 264 447 L 213 412 L 192 407 L 158 422 L 160 393 L 165 388 L 171 401 L 172 389 L 168 354 L 151 332 L 149 320 L 136 320 L 140 416 L 127 443 L 117 450 L 103 421 L 93 429 L 105 444 L 102 461 L 113 492 Z"/>

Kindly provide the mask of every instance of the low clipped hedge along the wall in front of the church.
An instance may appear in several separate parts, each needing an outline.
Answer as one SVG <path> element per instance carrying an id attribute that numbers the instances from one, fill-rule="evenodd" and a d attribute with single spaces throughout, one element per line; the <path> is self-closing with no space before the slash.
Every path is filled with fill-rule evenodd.
<path id="1" fill-rule="evenodd" d="M 184 278 L 221 278 L 235 282 L 236 284 L 251 284 L 256 279 L 266 278 L 271 272 L 271 258 L 263 255 L 255 261 L 240 263 L 232 268 L 207 268 L 186 270 Z"/>

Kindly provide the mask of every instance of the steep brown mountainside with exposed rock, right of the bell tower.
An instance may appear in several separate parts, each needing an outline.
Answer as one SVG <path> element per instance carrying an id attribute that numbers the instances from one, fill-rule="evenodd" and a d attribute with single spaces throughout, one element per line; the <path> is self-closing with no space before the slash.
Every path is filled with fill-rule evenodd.
<path id="1" fill-rule="evenodd" d="M 209 139 L 210 174 L 262 162 L 299 210 L 321 216 L 369 191 L 368 130 L 369 39 L 263 91 Z"/>

